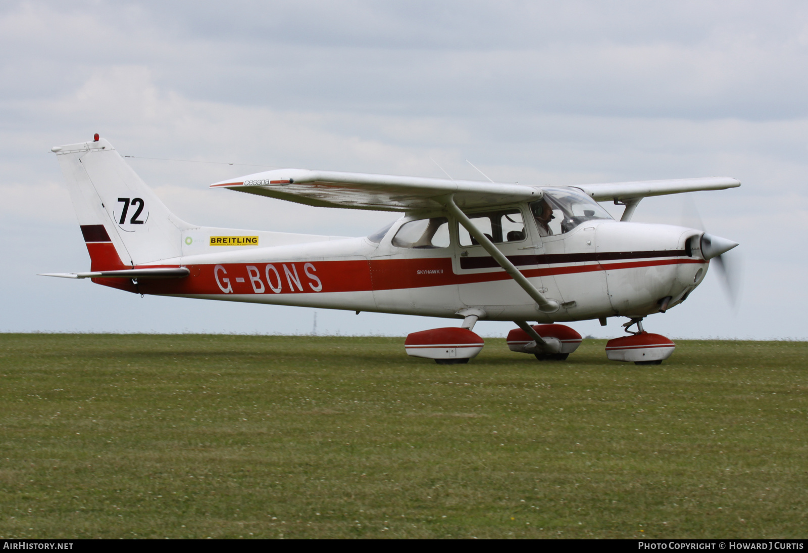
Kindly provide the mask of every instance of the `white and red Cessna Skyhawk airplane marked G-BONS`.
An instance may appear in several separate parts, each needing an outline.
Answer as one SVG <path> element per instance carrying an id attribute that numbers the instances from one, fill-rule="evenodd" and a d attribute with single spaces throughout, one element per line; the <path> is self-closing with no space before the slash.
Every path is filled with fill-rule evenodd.
<path id="1" fill-rule="evenodd" d="M 407 353 L 443 364 L 480 352 L 478 320 L 513 321 L 511 350 L 552 360 L 581 342 L 556 323 L 615 316 L 629 318 L 629 336 L 608 343 L 608 358 L 659 364 L 675 344 L 644 331 L 642 319 L 684 302 L 709 260 L 737 246 L 702 230 L 629 222 L 645 196 L 740 186 L 726 177 L 545 187 L 277 169 L 211 185 L 403 213 L 370 236 L 343 238 L 191 225 L 98 134 L 53 152 L 90 272 L 48 276 L 141 294 L 462 319 L 407 336 Z M 625 205 L 621 220 L 599 201 Z"/>

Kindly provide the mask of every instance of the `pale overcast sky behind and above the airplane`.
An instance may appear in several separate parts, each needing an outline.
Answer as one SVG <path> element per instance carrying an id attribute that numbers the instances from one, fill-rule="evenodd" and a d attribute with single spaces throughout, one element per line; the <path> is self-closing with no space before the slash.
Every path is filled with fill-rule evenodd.
<path id="1" fill-rule="evenodd" d="M 100 133 L 189 222 L 317 234 L 394 215 L 208 184 L 249 164 L 444 176 L 430 158 L 525 184 L 732 176 L 742 188 L 646 199 L 634 220 L 691 222 L 695 207 L 739 242 L 738 306 L 713 270 L 646 329 L 808 338 L 805 2 L 9 1 L 0 114 L 0 331 L 312 331 L 309 309 L 34 276 L 89 268 L 49 150 Z M 318 310 L 321 333 L 447 324 Z M 571 326 L 621 334 L 618 319 Z"/>

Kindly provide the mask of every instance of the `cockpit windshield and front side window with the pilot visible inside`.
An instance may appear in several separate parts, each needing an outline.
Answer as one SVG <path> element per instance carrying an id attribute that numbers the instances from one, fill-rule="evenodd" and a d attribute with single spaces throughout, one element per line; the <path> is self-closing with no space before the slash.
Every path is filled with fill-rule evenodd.
<path id="1" fill-rule="evenodd" d="M 545 196 L 530 205 L 541 236 L 570 232 L 592 219 L 611 219 L 605 209 L 583 192 L 570 188 L 545 188 Z"/>

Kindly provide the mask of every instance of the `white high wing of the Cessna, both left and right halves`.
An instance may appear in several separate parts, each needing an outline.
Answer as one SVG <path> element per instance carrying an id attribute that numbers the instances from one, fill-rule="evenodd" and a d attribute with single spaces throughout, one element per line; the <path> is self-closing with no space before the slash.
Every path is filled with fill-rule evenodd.
<path id="1" fill-rule="evenodd" d="M 740 182 L 736 179 L 707 177 L 585 184 L 574 188 L 583 190 L 595 201 L 611 201 L 737 186 Z M 211 188 L 228 188 L 305 205 L 379 211 L 435 209 L 443 207 L 450 195 L 465 209 L 538 200 L 543 195 L 541 186 L 526 184 L 308 169 L 263 171 L 211 184 Z"/>

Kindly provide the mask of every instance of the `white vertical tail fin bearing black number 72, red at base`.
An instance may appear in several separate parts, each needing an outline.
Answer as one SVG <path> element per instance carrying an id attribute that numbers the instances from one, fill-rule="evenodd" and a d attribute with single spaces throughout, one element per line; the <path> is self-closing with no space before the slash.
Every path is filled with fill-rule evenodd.
<path id="1" fill-rule="evenodd" d="M 112 144 L 95 137 L 53 148 L 90 251 L 90 270 L 182 255 L 182 232 L 191 226 L 170 213 Z"/>

